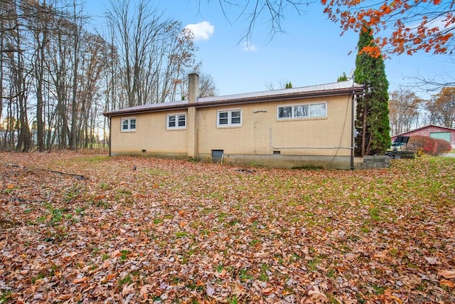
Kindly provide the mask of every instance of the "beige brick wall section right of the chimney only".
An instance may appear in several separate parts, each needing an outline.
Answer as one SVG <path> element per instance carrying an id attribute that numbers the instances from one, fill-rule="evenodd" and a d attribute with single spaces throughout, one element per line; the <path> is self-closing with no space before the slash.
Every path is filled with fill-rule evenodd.
<path id="1" fill-rule="evenodd" d="M 277 119 L 277 105 L 323 102 L 327 102 L 326 118 Z M 273 154 L 279 150 L 289 155 L 350 155 L 349 149 L 328 148 L 350 147 L 350 102 L 346 96 L 199 109 L 199 153 L 224 150 L 225 154 Z M 237 108 L 242 108 L 242 127 L 216 127 L 217 110 Z"/>

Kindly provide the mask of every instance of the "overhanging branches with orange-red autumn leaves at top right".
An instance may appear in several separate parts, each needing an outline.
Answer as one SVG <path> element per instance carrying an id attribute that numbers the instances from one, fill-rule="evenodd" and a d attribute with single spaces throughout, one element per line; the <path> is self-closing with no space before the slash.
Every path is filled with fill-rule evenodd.
<path id="1" fill-rule="evenodd" d="M 373 30 L 377 48 L 388 54 L 417 51 L 435 54 L 452 53 L 455 48 L 455 1 L 441 0 L 321 0 L 329 19 L 341 23 L 343 31 Z M 385 33 L 385 35 L 380 35 Z"/>

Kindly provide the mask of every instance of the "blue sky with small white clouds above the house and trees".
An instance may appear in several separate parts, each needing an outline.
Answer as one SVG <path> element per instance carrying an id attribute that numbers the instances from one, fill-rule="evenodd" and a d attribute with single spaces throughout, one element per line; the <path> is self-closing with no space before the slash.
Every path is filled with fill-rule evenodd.
<path id="1" fill-rule="evenodd" d="M 152 5 L 163 12 L 164 19 L 191 26 L 199 48 L 197 60 L 202 61 L 203 73 L 212 75 L 219 95 L 268 90 L 269 84 L 280 88 L 287 81 L 294 88 L 331 83 L 343 72 L 349 75 L 355 68 L 358 34 L 348 32 L 341 36 L 339 24 L 328 21 L 319 2 L 307 6 L 301 14 L 287 9 L 282 20 L 286 33 L 277 33 L 272 38 L 269 23 L 257 21 L 248 46 L 242 40 L 249 24 L 247 16 L 237 19 L 236 8 L 228 9 L 227 19 L 218 1 L 167 0 L 153 1 Z M 101 16 L 108 7 L 108 0 L 85 4 L 87 14 L 93 15 L 94 23 L 101 25 Z M 97 28 L 102 31 L 102 26 Z M 416 77 L 453 78 L 454 66 L 450 56 L 424 52 L 394 56 L 385 60 L 389 91 L 414 85 Z M 410 89 L 421 98 L 434 94 Z"/>

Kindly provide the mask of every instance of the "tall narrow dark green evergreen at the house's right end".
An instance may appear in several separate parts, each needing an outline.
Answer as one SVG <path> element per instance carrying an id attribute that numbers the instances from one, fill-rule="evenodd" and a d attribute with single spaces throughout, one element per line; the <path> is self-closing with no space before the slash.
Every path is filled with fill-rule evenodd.
<path id="1" fill-rule="evenodd" d="M 375 48 L 371 29 L 360 31 L 358 54 L 355 58 L 354 80 L 365 85 L 365 93 L 357 99 L 355 155 L 381 155 L 390 147 L 389 83 L 382 56 L 372 56 L 365 49 Z"/>

